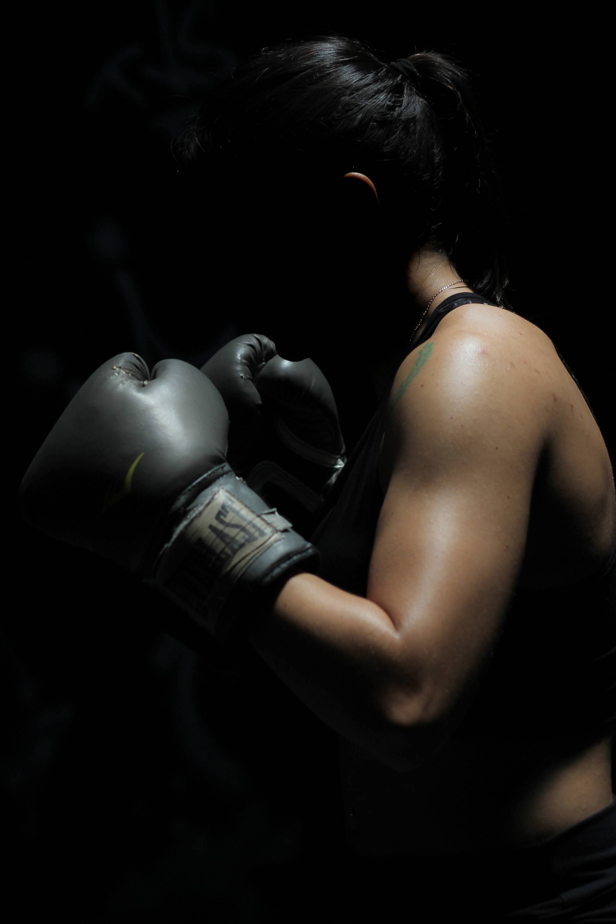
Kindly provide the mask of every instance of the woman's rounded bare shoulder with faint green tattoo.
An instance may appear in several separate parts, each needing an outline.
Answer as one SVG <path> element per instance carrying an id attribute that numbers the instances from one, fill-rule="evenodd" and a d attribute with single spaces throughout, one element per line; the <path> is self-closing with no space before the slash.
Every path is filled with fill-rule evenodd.
<path id="1" fill-rule="evenodd" d="M 381 441 L 381 489 L 387 490 L 396 458 L 415 452 L 420 438 L 438 445 L 442 456 L 460 456 L 465 448 L 473 458 L 488 440 L 499 447 L 494 453 L 501 465 L 509 456 L 531 478 L 557 427 L 548 399 L 559 392 L 555 360 L 547 334 L 513 312 L 484 305 L 451 311 L 393 379 Z"/>

